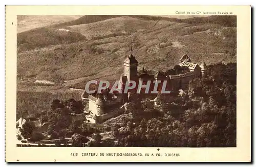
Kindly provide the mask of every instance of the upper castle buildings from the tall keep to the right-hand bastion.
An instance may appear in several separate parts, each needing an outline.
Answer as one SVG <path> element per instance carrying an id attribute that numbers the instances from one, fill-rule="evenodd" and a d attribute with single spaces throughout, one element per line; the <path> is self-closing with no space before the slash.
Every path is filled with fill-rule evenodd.
<path id="1" fill-rule="evenodd" d="M 204 61 L 200 63 L 193 63 L 191 62 L 191 59 L 187 56 L 187 54 L 184 54 L 181 57 L 180 63 L 178 65 L 181 68 L 186 68 L 188 70 L 187 73 L 177 75 L 165 75 L 162 71 L 156 71 L 154 75 L 150 75 L 143 68 L 142 73 L 138 74 L 138 61 L 132 54 L 132 50 L 130 55 L 127 56 L 127 58 L 124 60 L 123 65 L 124 73 L 120 76 L 120 87 L 124 88 L 127 81 L 135 81 L 137 85 L 139 81 L 142 81 L 143 84 L 146 84 L 147 81 L 151 81 L 150 90 L 153 90 L 155 85 L 153 81 L 161 81 L 161 83 L 158 85 L 158 91 L 161 91 L 163 81 L 167 82 L 166 90 L 185 90 L 188 86 L 188 82 L 191 79 L 206 76 L 207 70 L 207 66 Z M 128 102 L 127 98 L 124 99 L 124 102 Z"/>

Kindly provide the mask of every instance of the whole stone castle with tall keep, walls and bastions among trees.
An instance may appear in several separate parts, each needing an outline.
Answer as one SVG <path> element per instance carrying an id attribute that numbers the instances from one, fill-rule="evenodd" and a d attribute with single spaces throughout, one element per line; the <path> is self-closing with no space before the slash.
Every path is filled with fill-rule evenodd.
<path id="1" fill-rule="evenodd" d="M 120 76 L 119 86 L 123 89 L 127 81 L 136 81 L 145 83 L 147 81 L 166 81 L 166 89 L 172 92 L 179 90 L 186 90 L 188 82 L 197 77 L 204 77 L 207 75 L 207 66 L 205 62 L 193 63 L 187 54 L 184 54 L 178 64 L 182 72 L 180 74 L 166 75 L 161 71 L 157 71 L 154 75 L 148 74 L 143 68 L 142 73 L 138 73 L 138 61 L 131 53 L 123 62 L 124 73 Z M 162 82 L 161 82 L 162 83 Z M 161 84 L 158 85 L 161 88 Z M 154 84 L 151 84 L 153 89 Z M 86 92 L 81 95 L 83 101 L 89 101 L 89 108 L 84 112 L 87 114 L 87 120 L 92 123 L 101 123 L 111 117 L 118 116 L 126 111 L 126 104 L 131 99 L 131 92 L 126 94 L 110 94 L 109 89 L 106 89 L 101 94 L 89 94 Z M 154 105 L 157 106 L 158 99 L 152 100 Z"/>

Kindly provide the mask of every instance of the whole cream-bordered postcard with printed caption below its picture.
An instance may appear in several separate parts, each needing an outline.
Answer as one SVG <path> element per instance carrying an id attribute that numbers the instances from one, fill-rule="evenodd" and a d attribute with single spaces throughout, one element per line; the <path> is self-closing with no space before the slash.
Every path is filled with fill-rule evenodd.
<path id="1" fill-rule="evenodd" d="M 250 162 L 251 6 L 6 6 L 7 162 Z"/>

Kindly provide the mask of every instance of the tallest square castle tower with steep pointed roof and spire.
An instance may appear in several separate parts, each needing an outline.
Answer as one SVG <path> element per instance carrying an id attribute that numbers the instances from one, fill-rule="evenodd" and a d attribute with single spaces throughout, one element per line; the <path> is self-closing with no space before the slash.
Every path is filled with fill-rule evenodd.
<path id="1" fill-rule="evenodd" d="M 138 61 L 132 54 L 133 49 L 131 48 L 130 55 L 124 60 L 124 76 L 127 77 L 127 81 L 133 80 L 138 76 Z"/>

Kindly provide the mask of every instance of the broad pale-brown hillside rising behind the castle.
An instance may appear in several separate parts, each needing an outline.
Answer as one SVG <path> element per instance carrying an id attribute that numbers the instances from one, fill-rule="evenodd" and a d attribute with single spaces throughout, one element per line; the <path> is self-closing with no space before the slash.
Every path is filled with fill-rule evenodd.
<path id="1" fill-rule="evenodd" d="M 184 53 L 194 62 L 236 62 L 235 19 L 83 16 L 33 29 L 18 34 L 17 77 L 23 85 L 50 80 L 76 88 L 91 79 L 118 80 L 131 46 L 139 70 L 167 70 Z"/>

